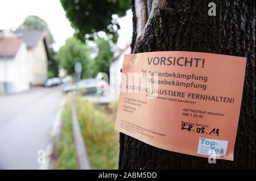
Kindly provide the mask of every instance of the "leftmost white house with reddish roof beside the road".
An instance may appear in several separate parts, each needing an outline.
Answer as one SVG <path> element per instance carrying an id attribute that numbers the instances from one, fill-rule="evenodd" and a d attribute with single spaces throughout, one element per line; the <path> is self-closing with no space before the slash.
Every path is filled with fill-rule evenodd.
<path id="1" fill-rule="evenodd" d="M 27 56 L 27 47 L 22 39 L 0 38 L 0 94 L 29 89 Z"/>

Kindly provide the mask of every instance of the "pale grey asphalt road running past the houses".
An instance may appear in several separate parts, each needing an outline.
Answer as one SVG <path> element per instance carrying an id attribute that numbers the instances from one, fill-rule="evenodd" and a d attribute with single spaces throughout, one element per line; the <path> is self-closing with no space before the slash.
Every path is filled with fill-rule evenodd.
<path id="1" fill-rule="evenodd" d="M 38 169 L 63 86 L 0 96 L 0 169 Z"/>

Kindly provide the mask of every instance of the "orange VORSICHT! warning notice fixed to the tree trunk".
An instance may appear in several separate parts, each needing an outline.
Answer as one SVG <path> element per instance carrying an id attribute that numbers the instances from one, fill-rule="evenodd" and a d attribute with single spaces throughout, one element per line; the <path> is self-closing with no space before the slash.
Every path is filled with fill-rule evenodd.
<path id="1" fill-rule="evenodd" d="M 157 148 L 233 161 L 245 57 L 126 54 L 115 128 Z"/>

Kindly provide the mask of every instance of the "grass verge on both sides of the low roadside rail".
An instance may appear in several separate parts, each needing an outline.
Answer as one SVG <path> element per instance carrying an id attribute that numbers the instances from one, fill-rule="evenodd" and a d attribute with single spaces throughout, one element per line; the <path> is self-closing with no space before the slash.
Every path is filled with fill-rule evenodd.
<path id="1" fill-rule="evenodd" d="M 77 169 L 69 104 L 67 101 L 64 107 L 56 169 Z M 96 106 L 77 97 L 75 107 L 92 169 L 118 169 L 119 136 L 114 130 L 117 102 Z"/>

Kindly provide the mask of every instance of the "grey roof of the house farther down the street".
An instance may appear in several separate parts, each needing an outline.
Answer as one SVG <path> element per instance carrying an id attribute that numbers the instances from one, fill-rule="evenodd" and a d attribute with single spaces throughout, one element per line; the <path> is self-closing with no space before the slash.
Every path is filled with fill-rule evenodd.
<path id="1" fill-rule="evenodd" d="M 46 36 L 43 31 L 38 30 L 18 30 L 15 33 L 25 41 L 27 48 L 36 47 L 40 38 Z"/>

